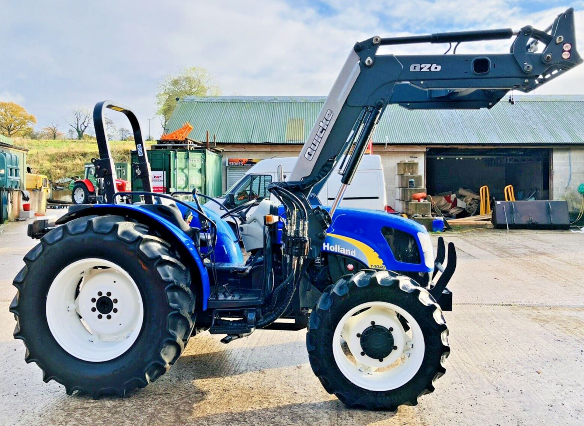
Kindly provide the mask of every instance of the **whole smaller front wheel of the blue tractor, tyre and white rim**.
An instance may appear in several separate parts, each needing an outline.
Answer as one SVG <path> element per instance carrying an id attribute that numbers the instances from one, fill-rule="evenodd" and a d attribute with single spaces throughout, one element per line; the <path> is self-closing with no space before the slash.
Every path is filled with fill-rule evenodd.
<path id="1" fill-rule="evenodd" d="M 442 310 L 426 289 L 388 271 L 360 271 L 322 293 L 310 314 L 307 349 L 326 392 L 347 407 L 395 411 L 434 391 L 446 372 L 447 337 Z"/>

